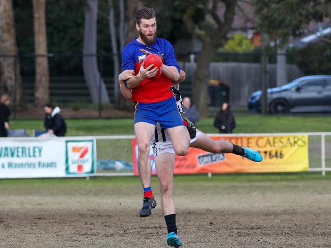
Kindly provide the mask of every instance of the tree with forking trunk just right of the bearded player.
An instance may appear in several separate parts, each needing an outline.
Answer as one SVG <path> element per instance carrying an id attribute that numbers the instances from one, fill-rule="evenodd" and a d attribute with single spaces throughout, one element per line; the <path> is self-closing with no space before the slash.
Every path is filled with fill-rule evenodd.
<path id="1" fill-rule="evenodd" d="M 183 21 L 194 37 L 202 41 L 202 50 L 197 58 L 194 74 L 194 102 L 202 116 L 208 114 L 207 85 L 209 65 L 218 47 L 225 44 L 232 27 L 237 5 L 236 0 L 182 1 L 187 4 Z"/>

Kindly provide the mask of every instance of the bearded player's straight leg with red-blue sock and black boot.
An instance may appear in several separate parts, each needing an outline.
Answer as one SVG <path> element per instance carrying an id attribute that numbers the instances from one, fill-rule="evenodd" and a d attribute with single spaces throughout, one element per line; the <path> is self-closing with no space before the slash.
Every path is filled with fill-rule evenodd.
<path id="1" fill-rule="evenodd" d="M 136 122 L 134 133 L 138 145 L 138 170 L 142 186 L 144 188 L 143 207 L 139 212 L 141 217 L 152 214 L 152 208 L 156 206 L 156 201 L 151 191 L 151 163 L 149 160 L 149 149 L 155 126 L 147 122 Z"/>

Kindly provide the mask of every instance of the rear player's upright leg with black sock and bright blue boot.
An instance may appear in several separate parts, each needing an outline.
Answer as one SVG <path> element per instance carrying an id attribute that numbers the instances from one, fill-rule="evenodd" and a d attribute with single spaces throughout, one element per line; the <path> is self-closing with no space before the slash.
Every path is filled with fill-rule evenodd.
<path id="1" fill-rule="evenodd" d="M 175 154 L 162 153 L 156 156 L 154 160 L 160 183 L 164 220 L 168 229 L 167 243 L 169 246 L 179 247 L 182 246 L 182 241 L 177 236 L 176 207 L 173 198 Z"/>

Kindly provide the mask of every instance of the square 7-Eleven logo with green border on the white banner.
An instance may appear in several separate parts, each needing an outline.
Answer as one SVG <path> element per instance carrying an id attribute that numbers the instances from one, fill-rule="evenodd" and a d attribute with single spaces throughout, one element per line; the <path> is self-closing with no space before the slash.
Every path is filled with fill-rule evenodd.
<path id="1" fill-rule="evenodd" d="M 95 140 L 66 141 L 66 174 L 95 172 Z"/>

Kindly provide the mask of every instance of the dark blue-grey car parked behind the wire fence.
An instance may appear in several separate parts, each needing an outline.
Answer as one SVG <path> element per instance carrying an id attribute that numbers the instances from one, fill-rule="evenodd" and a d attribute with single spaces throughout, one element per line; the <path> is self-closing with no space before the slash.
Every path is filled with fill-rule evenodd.
<path id="1" fill-rule="evenodd" d="M 262 91 L 247 100 L 249 110 L 261 111 Z M 305 76 L 281 87 L 267 89 L 270 113 L 331 112 L 331 75 Z"/>

